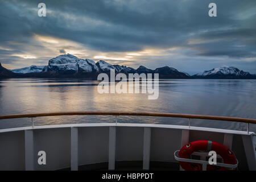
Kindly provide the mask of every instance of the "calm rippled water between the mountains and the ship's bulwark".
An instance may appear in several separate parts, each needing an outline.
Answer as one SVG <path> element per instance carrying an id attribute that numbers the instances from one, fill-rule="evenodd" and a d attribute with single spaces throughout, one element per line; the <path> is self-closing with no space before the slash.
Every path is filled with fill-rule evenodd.
<path id="1" fill-rule="evenodd" d="M 133 111 L 256 118 L 256 80 L 160 80 L 158 100 L 147 94 L 99 94 L 97 81 L 15 78 L 0 80 L 0 115 L 56 111 Z M 188 119 L 118 117 L 118 122 L 188 125 Z M 36 125 L 115 122 L 112 116 L 39 117 Z M 0 129 L 30 126 L 5 119 Z M 192 126 L 246 130 L 244 123 L 191 120 Z M 250 131 L 256 131 L 250 125 Z"/>

